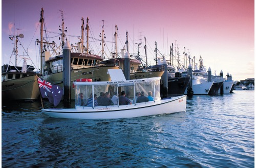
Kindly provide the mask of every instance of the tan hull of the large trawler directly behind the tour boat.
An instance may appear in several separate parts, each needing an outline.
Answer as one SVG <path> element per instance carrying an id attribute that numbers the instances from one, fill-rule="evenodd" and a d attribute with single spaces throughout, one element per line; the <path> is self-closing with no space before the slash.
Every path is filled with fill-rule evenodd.
<path id="1" fill-rule="evenodd" d="M 119 69 L 115 66 L 92 66 L 91 68 L 82 68 L 71 71 L 71 86 L 73 81 L 80 78 L 90 78 L 93 81 L 110 81 L 110 75 L 108 69 Z M 57 72 L 42 76 L 44 80 L 51 82 L 52 84 L 58 85 L 63 88 L 63 73 Z M 75 99 L 75 91 L 71 88 L 71 99 Z"/>

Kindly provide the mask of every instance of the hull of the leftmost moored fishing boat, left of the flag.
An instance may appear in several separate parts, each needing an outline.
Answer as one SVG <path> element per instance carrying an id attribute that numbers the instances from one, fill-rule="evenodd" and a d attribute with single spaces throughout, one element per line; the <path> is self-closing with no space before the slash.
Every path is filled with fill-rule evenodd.
<path id="1" fill-rule="evenodd" d="M 35 100 L 38 97 L 36 75 L 2 81 L 2 100 Z"/>

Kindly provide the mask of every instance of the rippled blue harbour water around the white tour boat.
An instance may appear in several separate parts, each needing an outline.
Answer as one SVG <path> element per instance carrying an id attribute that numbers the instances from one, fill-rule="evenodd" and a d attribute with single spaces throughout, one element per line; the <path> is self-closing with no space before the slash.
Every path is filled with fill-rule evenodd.
<path id="1" fill-rule="evenodd" d="M 181 113 L 115 120 L 3 102 L 2 167 L 254 167 L 254 91 L 233 92 L 188 98 Z"/>

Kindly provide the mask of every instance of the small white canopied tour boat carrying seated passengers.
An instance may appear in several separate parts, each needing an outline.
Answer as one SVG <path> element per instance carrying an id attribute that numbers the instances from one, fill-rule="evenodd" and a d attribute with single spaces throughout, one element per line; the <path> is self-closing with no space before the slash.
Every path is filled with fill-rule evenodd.
<path id="1" fill-rule="evenodd" d="M 42 112 L 56 118 L 118 119 L 177 113 L 186 109 L 186 95 L 163 99 L 160 97 L 161 77 L 126 80 L 122 70 L 109 70 L 109 74 L 111 81 L 74 82 L 75 108 L 49 108 L 42 109 Z M 110 92 L 112 97 L 115 92 L 120 95 L 122 91 L 125 91 L 127 99 L 135 98 L 137 92 L 144 92 L 147 96 L 147 93 L 152 91 L 154 101 L 136 102 L 135 99 L 133 104 L 119 105 L 121 98 L 118 97 L 117 105 L 97 106 L 96 96 L 101 92 Z M 86 97 L 94 95 L 90 106 L 77 104 L 81 102 L 81 93 Z"/>

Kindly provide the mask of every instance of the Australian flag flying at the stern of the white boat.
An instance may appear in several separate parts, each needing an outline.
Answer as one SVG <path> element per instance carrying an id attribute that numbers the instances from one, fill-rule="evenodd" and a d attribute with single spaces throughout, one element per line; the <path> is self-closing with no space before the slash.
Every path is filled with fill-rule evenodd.
<path id="1" fill-rule="evenodd" d="M 49 102 L 54 106 L 57 106 L 63 95 L 63 90 L 57 86 L 52 85 L 50 82 L 45 81 L 44 79 L 37 76 L 37 82 L 42 98 L 48 98 Z"/>

